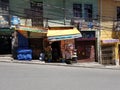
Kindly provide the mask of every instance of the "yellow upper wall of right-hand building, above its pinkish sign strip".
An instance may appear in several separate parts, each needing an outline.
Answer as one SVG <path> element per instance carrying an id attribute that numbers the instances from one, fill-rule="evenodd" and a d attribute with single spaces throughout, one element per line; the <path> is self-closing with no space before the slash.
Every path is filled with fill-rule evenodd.
<path id="1" fill-rule="evenodd" d="M 102 1 L 102 5 L 101 2 Z M 113 31 L 114 20 L 117 16 L 117 6 L 120 1 L 115 0 L 99 0 L 99 15 L 101 17 L 101 39 L 119 38 Z M 102 8 L 101 8 L 102 6 Z"/>

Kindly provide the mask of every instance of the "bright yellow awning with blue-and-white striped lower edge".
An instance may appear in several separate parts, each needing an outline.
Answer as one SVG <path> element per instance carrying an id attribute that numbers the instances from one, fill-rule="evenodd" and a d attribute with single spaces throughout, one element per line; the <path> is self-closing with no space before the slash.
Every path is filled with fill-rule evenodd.
<path id="1" fill-rule="evenodd" d="M 47 37 L 49 41 L 59 41 L 66 39 L 74 39 L 82 37 L 77 28 L 67 29 L 50 29 L 48 30 Z"/>

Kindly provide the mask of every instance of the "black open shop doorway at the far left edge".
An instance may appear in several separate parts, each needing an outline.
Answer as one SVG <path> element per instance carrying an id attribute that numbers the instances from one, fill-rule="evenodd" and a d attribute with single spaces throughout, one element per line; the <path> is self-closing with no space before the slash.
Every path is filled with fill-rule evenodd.
<path id="1" fill-rule="evenodd" d="M 11 54 L 11 37 L 6 35 L 0 36 L 0 54 Z"/>

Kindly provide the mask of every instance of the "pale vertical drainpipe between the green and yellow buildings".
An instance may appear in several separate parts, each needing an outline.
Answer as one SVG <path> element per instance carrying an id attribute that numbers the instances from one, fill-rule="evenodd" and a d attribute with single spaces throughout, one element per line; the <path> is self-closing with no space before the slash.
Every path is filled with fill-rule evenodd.
<path id="1" fill-rule="evenodd" d="M 98 51 L 98 62 L 102 64 L 102 54 L 101 54 L 101 26 L 102 26 L 102 0 L 100 0 L 100 29 L 98 30 L 98 40 L 97 40 L 97 51 Z"/>

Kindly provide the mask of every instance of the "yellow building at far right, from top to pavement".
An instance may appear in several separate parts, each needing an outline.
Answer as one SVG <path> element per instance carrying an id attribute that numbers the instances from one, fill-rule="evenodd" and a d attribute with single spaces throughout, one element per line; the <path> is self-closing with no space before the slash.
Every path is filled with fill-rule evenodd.
<path id="1" fill-rule="evenodd" d="M 102 64 L 119 65 L 119 0 L 99 0 Z"/>

